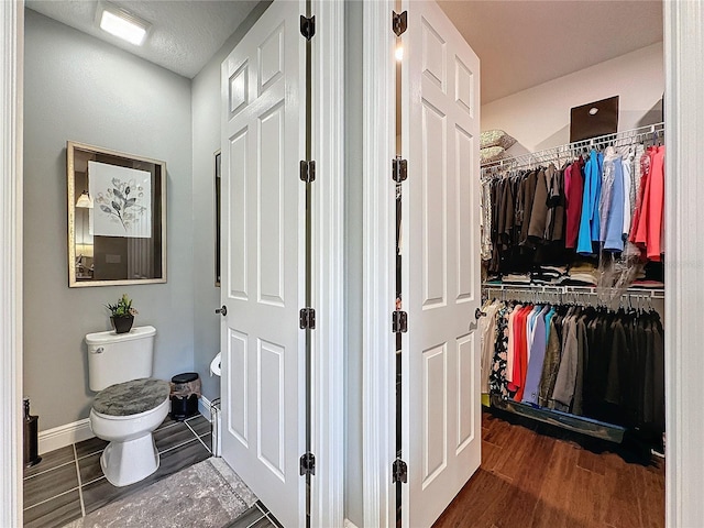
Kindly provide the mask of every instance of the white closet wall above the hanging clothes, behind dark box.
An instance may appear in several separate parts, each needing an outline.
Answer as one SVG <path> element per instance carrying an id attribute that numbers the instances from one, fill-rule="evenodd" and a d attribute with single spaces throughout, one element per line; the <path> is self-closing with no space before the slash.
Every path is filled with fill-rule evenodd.
<path id="1" fill-rule="evenodd" d="M 482 130 L 516 138 L 510 155 L 570 142 L 570 109 L 619 96 L 618 130 L 662 121 L 662 43 L 581 69 L 482 106 Z"/>

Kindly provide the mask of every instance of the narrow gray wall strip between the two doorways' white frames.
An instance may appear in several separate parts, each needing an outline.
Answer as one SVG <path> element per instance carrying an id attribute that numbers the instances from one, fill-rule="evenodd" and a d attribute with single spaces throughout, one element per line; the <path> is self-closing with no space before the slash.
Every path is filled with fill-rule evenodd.
<path id="1" fill-rule="evenodd" d="M 364 525 L 362 490 L 362 2 L 345 3 L 345 474 L 344 515 Z"/>

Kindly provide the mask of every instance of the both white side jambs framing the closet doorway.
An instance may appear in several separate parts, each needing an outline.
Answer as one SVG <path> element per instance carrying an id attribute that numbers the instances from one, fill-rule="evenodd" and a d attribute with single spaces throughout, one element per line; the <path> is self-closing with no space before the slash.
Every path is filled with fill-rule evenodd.
<path id="1" fill-rule="evenodd" d="M 393 157 L 394 40 L 392 0 L 364 4 L 364 526 L 395 524 L 394 343 L 388 298 L 394 270 L 392 186 L 385 185 Z M 704 304 L 704 234 L 688 229 L 701 218 L 704 190 L 698 186 L 697 155 L 704 136 L 704 0 L 664 1 L 666 136 L 668 144 L 666 204 L 666 391 L 667 526 L 696 526 L 704 518 L 698 491 L 704 466 L 704 413 L 698 403 L 702 372 L 701 312 Z M 387 117 L 384 119 L 383 117 Z M 384 223 L 386 222 L 386 223 Z M 701 221 L 698 222 L 701 223 Z M 391 228 L 388 228 L 391 229 Z M 686 238 L 680 233 L 688 233 Z M 701 240 L 700 240 L 701 239 Z M 380 292 L 382 295 L 380 296 Z"/>

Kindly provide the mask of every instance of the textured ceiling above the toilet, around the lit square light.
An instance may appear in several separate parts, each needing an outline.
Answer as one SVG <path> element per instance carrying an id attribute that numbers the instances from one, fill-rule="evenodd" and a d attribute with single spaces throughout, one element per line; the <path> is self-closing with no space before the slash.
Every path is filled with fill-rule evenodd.
<path id="1" fill-rule="evenodd" d="M 6 0 L 0 0 L 6 1 Z M 134 55 L 193 78 L 220 50 L 257 0 L 116 0 L 110 3 L 152 23 L 142 46 L 117 38 L 96 24 L 98 0 L 26 0 L 26 7 Z"/>

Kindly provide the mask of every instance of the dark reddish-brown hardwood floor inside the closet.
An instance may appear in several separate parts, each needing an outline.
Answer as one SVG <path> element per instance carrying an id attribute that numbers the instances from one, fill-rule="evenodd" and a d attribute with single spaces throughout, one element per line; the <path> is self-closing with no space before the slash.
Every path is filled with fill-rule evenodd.
<path id="1" fill-rule="evenodd" d="M 482 465 L 435 524 L 436 528 L 662 526 L 664 460 L 639 458 L 623 447 L 486 410 Z"/>

